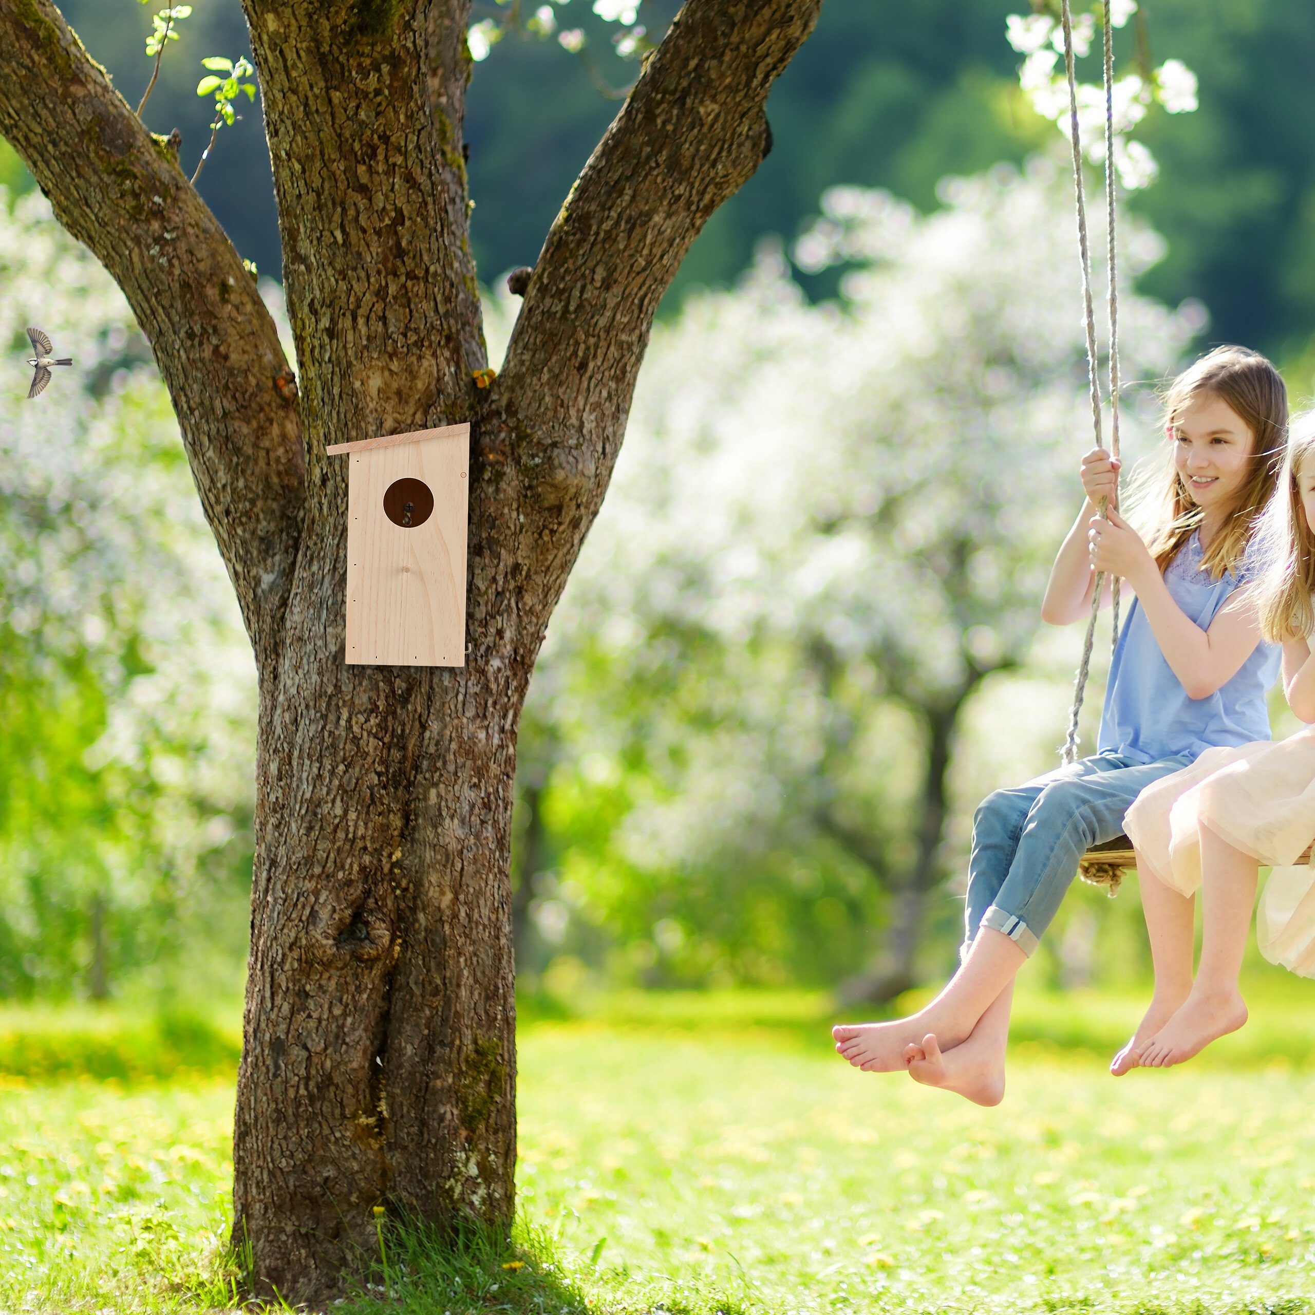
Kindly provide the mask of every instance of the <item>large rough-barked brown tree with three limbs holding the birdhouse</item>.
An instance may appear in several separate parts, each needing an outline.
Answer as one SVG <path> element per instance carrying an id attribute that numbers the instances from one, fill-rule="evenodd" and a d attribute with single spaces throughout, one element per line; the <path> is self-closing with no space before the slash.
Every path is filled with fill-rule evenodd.
<path id="1" fill-rule="evenodd" d="M 468 0 L 243 0 L 300 400 L 238 254 L 51 0 L 0 0 L 0 132 L 128 295 L 255 650 L 256 856 L 234 1239 L 322 1302 L 372 1207 L 508 1224 L 515 730 L 654 310 L 769 145 L 821 0 L 689 0 L 585 166 L 488 391 L 467 241 Z M 469 652 L 343 664 L 346 463 L 469 419 Z"/>

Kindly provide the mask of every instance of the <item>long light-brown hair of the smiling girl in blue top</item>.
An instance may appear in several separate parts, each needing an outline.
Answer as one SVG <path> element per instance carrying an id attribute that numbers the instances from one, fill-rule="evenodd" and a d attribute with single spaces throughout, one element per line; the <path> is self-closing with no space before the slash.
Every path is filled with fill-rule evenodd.
<path id="1" fill-rule="evenodd" d="M 1251 467 L 1237 493 L 1237 504 L 1201 562 L 1210 577 L 1218 580 L 1241 563 L 1252 530 L 1278 484 L 1287 437 L 1287 388 L 1260 352 L 1247 347 L 1215 347 L 1169 385 L 1164 414 L 1170 434 L 1187 404 L 1202 393 L 1214 393 L 1226 402 L 1252 435 Z M 1147 547 L 1162 572 L 1201 525 L 1202 515 L 1178 475 L 1172 447 L 1168 463 L 1137 480 L 1132 497 L 1139 519 L 1149 526 Z"/>

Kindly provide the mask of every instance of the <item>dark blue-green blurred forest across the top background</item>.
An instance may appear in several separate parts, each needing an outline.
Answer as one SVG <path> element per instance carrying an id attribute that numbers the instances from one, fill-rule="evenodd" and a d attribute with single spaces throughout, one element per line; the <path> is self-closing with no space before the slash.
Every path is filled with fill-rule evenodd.
<path id="1" fill-rule="evenodd" d="M 635 64 L 611 54 L 614 28 L 594 17 L 586 0 L 555 8 L 560 26 L 589 32 L 588 49 L 611 84 L 634 78 Z M 647 0 L 642 20 L 658 33 L 675 8 L 673 0 Z M 1048 143 L 1053 129 L 1019 95 L 1018 57 L 1002 39 L 1005 16 L 1026 8 L 1018 0 L 885 8 L 827 0 L 817 32 L 773 92 L 772 155 L 711 220 L 677 289 L 731 283 L 759 237 L 776 233 L 792 242 L 823 189 L 836 183 L 885 187 L 926 212 L 938 205 L 944 175 L 1019 163 Z M 149 9 L 129 0 L 70 0 L 66 9 L 135 105 L 150 75 L 142 54 Z M 501 13 L 492 4 L 487 9 Z M 1198 299 L 1210 306 L 1222 341 L 1295 363 L 1315 313 L 1308 204 L 1315 145 L 1303 130 L 1315 17 L 1301 0 L 1222 3 L 1210 9 L 1208 22 L 1193 0 L 1153 0 L 1147 11 L 1153 57 L 1181 58 L 1198 74 L 1203 108 L 1178 118 L 1153 113 L 1141 133 L 1160 162 L 1162 185 L 1130 204 L 1169 243 L 1145 289 L 1172 305 Z M 1136 30 L 1119 36 L 1122 59 L 1131 55 Z M 158 132 L 183 130 L 189 168 L 209 137 L 209 103 L 195 95 L 204 72 L 199 60 L 237 55 L 245 42 L 239 0 L 209 0 L 195 5 L 183 39 L 166 54 L 147 118 Z M 615 108 L 552 41 L 506 39 L 476 66 L 466 139 L 481 277 L 492 281 L 534 259 Z M 225 129 L 201 191 L 241 254 L 277 277 L 260 112 L 245 97 L 239 109 L 245 118 Z M 796 272 L 810 295 L 835 288 L 834 275 Z M 1315 366 L 1301 368 L 1308 383 Z"/>

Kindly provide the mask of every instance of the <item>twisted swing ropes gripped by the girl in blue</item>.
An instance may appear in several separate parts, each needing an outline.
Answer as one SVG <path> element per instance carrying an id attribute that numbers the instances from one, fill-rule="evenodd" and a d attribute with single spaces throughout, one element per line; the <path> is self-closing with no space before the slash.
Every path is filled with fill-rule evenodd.
<path id="1" fill-rule="evenodd" d="M 1086 312 L 1086 372 L 1091 400 L 1091 430 L 1095 446 L 1101 442 L 1101 379 L 1099 358 L 1095 346 L 1095 308 L 1091 293 L 1091 252 L 1086 231 L 1086 191 L 1082 184 L 1082 137 L 1077 114 L 1077 76 L 1073 59 L 1073 14 L 1069 0 L 1060 0 L 1060 16 L 1064 26 L 1064 67 L 1069 87 L 1069 141 L 1073 147 L 1073 193 L 1077 203 L 1077 241 L 1082 263 L 1082 304 Z M 1114 183 L 1114 25 L 1110 22 L 1110 0 L 1105 0 L 1105 204 L 1106 231 L 1109 234 L 1107 264 L 1110 275 L 1110 454 L 1119 456 L 1119 288 L 1115 256 L 1115 183 Z M 1115 485 L 1115 489 L 1118 485 Z M 1103 517 L 1109 512 L 1110 498 L 1101 498 L 1098 508 Z M 1118 505 L 1115 492 L 1114 505 Z M 1105 572 L 1097 572 L 1095 589 L 1091 596 L 1091 617 L 1086 625 L 1086 639 L 1082 644 L 1082 660 L 1078 664 L 1073 682 L 1073 706 L 1069 709 L 1068 735 L 1064 740 L 1064 761 L 1077 759 L 1077 723 L 1086 696 L 1086 681 L 1091 669 L 1091 650 L 1095 646 L 1095 621 L 1101 610 L 1101 593 L 1105 588 Z M 1114 644 L 1119 640 L 1119 579 L 1111 580 L 1114 601 Z"/>

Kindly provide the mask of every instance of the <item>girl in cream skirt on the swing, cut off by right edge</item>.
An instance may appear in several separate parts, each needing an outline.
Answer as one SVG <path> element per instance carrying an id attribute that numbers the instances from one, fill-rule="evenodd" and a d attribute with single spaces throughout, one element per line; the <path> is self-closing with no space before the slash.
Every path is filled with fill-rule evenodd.
<path id="1" fill-rule="evenodd" d="M 1283 646 L 1283 690 L 1307 723 L 1279 744 L 1202 753 L 1157 781 L 1128 811 L 1155 963 L 1155 1001 L 1115 1074 L 1190 1060 L 1247 1022 L 1237 973 L 1260 864 L 1274 868 L 1261 905 L 1265 957 L 1315 976 L 1315 881 L 1293 867 L 1315 839 L 1315 413 L 1293 431 L 1268 518 L 1274 562 L 1256 586 L 1262 634 Z M 1202 888 L 1201 968 L 1191 981 L 1193 897 Z M 1162 1024 L 1162 1026 L 1161 1026 Z"/>

